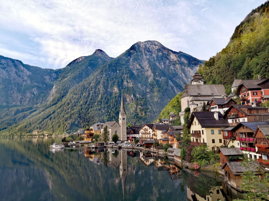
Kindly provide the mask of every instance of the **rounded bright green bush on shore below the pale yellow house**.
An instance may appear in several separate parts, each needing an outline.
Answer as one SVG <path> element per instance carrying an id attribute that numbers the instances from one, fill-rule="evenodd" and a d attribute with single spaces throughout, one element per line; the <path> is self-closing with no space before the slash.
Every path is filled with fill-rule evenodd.
<path id="1" fill-rule="evenodd" d="M 210 161 L 207 145 L 193 147 L 191 155 L 193 162 L 197 162 L 200 166 L 208 165 L 208 161 Z"/>

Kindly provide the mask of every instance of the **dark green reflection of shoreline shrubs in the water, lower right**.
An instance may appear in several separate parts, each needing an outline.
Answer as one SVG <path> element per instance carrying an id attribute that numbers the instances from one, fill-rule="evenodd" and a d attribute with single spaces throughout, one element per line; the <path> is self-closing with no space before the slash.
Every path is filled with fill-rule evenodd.
<path id="1" fill-rule="evenodd" d="M 201 173 L 198 177 L 182 170 L 183 183 L 194 193 L 205 198 L 215 186 L 221 186 L 221 182 L 214 177 Z"/>

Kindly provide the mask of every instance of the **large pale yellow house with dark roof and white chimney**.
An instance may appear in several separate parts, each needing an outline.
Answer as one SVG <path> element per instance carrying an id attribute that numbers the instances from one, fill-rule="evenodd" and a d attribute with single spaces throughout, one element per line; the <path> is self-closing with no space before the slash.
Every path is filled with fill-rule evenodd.
<path id="1" fill-rule="evenodd" d="M 229 127 L 220 112 L 193 112 L 187 128 L 190 129 L 191 144 L 207 145 L 210 149 L 223 145 L 221 129 Z"/>

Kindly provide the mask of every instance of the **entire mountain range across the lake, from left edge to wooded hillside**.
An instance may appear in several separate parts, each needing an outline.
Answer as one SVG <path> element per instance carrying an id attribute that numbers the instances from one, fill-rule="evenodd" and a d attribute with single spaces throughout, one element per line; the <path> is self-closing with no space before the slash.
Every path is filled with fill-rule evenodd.
<path id="1" fill-rule="evenodd" d="M 151 122 L 204 63 L 157 41 L 137 42 L 116 58 L 95 50 L 57 70 L 0 59 L 0 130 L 17 134 L 117 120 L 121 91 L 128 123 Z"/>

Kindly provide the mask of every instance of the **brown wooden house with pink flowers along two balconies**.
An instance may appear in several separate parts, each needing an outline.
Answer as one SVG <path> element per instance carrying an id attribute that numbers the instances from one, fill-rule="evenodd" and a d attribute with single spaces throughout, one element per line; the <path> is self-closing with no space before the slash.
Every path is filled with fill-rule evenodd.
<path id="1" fill-rule="evenodd" d="M 239 147 L 248 158 L 261 158 L 261 154 L 256 153 L 257 148 L 254 146 L 254 132 L 260 125 L 268 125 L 268 122 L 240 122 L 232 129 L 236 138 L 235 147 Z"/>

